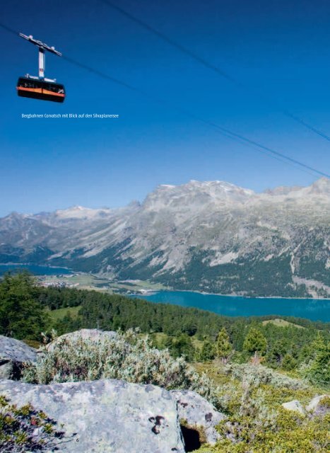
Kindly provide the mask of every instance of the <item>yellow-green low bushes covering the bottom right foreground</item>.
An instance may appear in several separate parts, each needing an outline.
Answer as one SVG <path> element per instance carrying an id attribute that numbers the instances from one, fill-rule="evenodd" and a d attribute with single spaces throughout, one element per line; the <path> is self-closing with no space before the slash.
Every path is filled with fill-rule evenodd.
<path id="1" fill-rule="evenodd" d="M 282 404 L 297 399 L 306 406 L 316 389 L 261 365 L 203 364 L 220 385 L 220 406 L 227 413 L 217 427 L 216 445 L 203 445 L 199 453 L 328 453 L 330 413 L 300 415 Z M 227 370 L 227 372 L 225 372 Z M 271 372 L 269 374 L 269 371 Z M 285 379 L 285 381 L 283 381 Z M 322 399 L 330 407 L 330 398 Z"/>

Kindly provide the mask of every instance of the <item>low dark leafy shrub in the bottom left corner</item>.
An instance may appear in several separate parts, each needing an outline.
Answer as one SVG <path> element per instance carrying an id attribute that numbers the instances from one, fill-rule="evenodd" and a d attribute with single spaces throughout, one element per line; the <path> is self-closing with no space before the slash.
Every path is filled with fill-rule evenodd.
<path id="1" fill-rule="evenodd" d="M 64 442 L 64 431 L 42 411 L 27 404 L 20 408 L 0 396 L 1 453 L 49 452 Z"/>

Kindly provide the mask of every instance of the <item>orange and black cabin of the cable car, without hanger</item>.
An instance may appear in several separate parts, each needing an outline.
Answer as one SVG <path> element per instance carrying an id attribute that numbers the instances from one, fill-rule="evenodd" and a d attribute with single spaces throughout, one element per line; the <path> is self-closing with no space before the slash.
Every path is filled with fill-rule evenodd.
<path id="1" fill-rule="evenodd" d="M 40 79 L 20 77 L 17 82 L 18 96 L 42 99 L 43 101 L 64 102 L 64 85 Z"/>

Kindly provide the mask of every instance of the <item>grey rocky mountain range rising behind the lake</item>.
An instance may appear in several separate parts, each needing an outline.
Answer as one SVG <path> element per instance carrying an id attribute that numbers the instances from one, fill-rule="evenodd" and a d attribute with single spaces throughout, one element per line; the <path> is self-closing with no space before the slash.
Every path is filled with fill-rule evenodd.
<path id="1" fill-rule="evenodd" d="M 191 180 L 113 210 L 13 212 L 0 219 L 0 262 L 175 289 L 330 297 L 330 180 L 264 193 Z"/>

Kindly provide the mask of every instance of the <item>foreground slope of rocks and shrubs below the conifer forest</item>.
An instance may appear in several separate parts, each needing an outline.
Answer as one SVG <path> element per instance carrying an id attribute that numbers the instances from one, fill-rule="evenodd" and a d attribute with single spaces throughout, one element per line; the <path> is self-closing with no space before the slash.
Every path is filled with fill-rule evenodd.
<path id="1" fill-rule="evenodd" d="M 134 331 L 0 345 L 1 452 L 329 451 L 329 396 L 257 363 L 193 367 Z"/>

